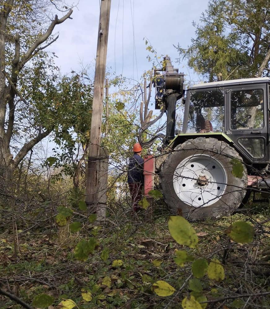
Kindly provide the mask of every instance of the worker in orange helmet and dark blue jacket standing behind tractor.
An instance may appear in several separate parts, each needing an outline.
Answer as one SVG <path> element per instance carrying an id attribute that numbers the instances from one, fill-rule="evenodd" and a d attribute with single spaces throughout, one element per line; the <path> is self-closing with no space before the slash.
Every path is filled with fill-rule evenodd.
<path id="1" fill-rule="evenodd" d="M 143 149 L 139 143 L 134 144 L 134 154 L 133 157 L 129 158 L 128 165 L 127 183 L 129 185 L 134 212 L 138 212 L 141 209 L 138 202 L 142 198 L 142 189 L 144 184 L 144 159 L 141 157 L 142 150 Z"/>

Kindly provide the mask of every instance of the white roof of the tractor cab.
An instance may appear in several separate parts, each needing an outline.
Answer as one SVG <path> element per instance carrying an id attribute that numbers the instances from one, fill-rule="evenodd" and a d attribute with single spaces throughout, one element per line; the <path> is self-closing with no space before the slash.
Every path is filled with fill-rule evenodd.
<path id="1" fill-rule="evenodd" d="M 215 88 L 215 87 L 220 88 L 220 87 L 228 87 L 228 85 L 257 84 L 257 83 L 268 83 L 268 82 L 270 82 L 269 77 L 243 78 L 240 80 L 222 80 L 219 82 L 196 84 L 191 87 L 188 87 L 188 89 Z"/>

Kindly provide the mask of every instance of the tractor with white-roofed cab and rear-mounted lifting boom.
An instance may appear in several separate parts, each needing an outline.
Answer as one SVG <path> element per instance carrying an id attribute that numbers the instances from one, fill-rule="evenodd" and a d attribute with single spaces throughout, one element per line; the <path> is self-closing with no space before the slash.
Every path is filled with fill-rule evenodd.
<path id="1" fill-rule="evenodd" d="M 142 134 L 166 114 L 160 155 L 144 159 L 146 197 L 156 173 L 171 211 L 189 220 L 227 216 L 251 191 L 254 202 L 268 198 L 270 78 L 203 83 L 185 92 L 184 74 L 173 68 L 169 57 L 164 60 L 166 67 L 156 70 L 164 78 L 157 89 L 162 97 L 156 97 L 161 113 L 139 134 L 139 142 L 148 148 L 154 138 L 144 142 Z M 181 132 L 175 130 L 177 101 L 184 104 Z M 260 199 L 255 193 L 261 193 Z"/>

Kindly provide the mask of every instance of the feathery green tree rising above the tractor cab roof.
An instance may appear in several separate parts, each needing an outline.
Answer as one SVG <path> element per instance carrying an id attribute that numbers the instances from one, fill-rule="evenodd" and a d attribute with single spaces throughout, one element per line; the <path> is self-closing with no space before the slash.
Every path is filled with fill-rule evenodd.
<path id="1" fill-rule="evenodd" d="M 212 0 L 193 22 L 196 37 L 179 56 L 197 73 L 216 80 L 268 75 L 270 3 L 264 0 Z M 179 58 L 180 59 L 180 58 Z"/>

